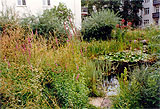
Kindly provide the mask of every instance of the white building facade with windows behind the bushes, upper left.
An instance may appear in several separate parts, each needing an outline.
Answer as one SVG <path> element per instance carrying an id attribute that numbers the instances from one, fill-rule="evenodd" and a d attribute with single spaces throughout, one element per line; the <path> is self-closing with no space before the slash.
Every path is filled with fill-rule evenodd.
<path id="1" fill-rule="evenodd" d="M 71 9 L 77 28 L 81 27 L 81 0 L 0 0 L 0 11 L 12 7 L 20 16 L 42 14 L 43 10 L 64 3 Z"/>

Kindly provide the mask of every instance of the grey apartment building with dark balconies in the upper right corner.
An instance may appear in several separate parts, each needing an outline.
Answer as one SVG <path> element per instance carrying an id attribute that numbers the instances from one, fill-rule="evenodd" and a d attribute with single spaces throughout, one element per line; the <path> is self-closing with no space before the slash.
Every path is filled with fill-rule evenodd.
<path id="1" fill-rule="evenodd" d="M 144 0 L 141 16 L 142 27 L 160 25 L 160 0 Z"/>

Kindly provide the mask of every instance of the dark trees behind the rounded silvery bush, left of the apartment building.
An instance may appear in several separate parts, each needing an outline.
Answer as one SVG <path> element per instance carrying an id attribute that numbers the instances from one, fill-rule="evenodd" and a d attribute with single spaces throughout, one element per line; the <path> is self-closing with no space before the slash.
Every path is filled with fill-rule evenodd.
<path id="1" fill-rule="evenodd" d="M 88 7 L 88 13 L 92 13 L 93 6 L 96 10 L 110 9 L 115 13 L 119 12 L 119 16 L 127 22 L 132 22 L 133 26 L 141 23 L 141 16 L 138 12 L 142 10 L 143 0 L 82 0 L 82 6 Z"/>

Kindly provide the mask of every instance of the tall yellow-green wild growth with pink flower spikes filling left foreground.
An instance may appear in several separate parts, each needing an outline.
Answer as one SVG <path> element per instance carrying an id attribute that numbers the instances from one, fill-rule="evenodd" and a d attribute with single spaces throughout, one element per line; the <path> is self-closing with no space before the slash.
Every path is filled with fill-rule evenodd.
<path id="1" fill-rule="evenodd" d="M 92 69 L 79 40 L 53 48 L 54 40 L 46 43 L 37 34 L 28 32 L 24 38 L 22 28 L 9 32 L 0 40 L 2 108 L 87 106 L 90 78 L 86 75 Z"/>

